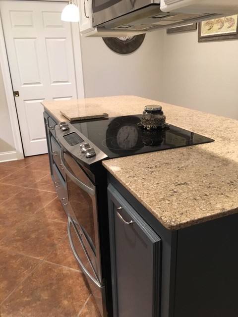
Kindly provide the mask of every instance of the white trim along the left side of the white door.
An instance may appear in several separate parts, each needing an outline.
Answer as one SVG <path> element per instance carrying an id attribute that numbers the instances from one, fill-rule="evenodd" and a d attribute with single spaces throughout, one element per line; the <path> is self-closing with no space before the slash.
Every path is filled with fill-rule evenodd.
<path id="1" fill-rule="evenodd" d="M 0 65 L 2 70 L 3 84 L 5 88 L 5 93 L 6 93 L 6 101 L 7 101 L 7 106 L 8 106 L 9 116 L 10 116 L 11 128 L 13 133 L 13 140 L 14 140 L 15 149 L 16 149 L 15 158 L 12 158 L 12 159 L 23 159 L 24 154 L 23 154 L 23 148 L 21 143 L 21 134 L 20 134 L 20 129 L 18 125 L 15 99 L 12 93 L 11 75 L 10 75 L 10 70 L 8 66 L 3 28 L 1 23 L 1 16 L 0 16 Z"/>

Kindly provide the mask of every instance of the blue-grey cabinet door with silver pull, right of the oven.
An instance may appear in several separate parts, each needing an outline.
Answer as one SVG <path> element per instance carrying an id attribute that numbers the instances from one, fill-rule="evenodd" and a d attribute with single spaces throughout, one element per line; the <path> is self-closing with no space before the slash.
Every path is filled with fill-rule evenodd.
<path id="1" fill-rule="evenodd" d="M 159 317 L 161 239 L 110 184 L 115 317 Z"/>

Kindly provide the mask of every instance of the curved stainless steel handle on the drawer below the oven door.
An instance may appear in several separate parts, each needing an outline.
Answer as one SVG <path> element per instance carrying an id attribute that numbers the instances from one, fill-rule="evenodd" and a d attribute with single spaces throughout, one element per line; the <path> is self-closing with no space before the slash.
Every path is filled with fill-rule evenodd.
<path id="1" fill-rule="evenodd" d="M 78 229 L 76 228 L 72 217 L 71 217 L 71 216 L 68 216 L 68 224 L 67 224 L 67 227 L 68 227 L 68 239 L 69 239 L 69 244 L 70 244 L 70 247 L 71 247 L 72 252 L 73 252 L 73 254 L 74 254 L 74 257 L 76 258 L 77 262 L 79 263 L 79 265 L 80 265 L 82 271 L 84 272 L 84 274 L 87 275 L 87 276 L 93 281 L 94 284 L 96 284 L 98 287 L 101 288 L 101 285 L 100 285 L 99 281 L 96 280 L 96 279 L 89 273 L 89 271 L 86 269 L 86 267 L 84 266 L 84 264 L 83 264 L 82 261 L 80 260 L 78 254 L 77 254 L 77 252 L 76 252 L 76 250 L 75 250 L 75 248 L 74 248 L 73 240 L 72 240 L 72 236 L 71 236 L 71 231 L 70 231 L 70 225 L 71 225 L 71 224 L 72 224 L 72 226 L 73 226 L 73 228 L 74 228 L 74 230 L 75 230 L 75 232 L 76 232 L 76 235 L 77 235 L 77 237 L 78 237 L 78 239 L 79 239 L 79 241 L 80 241 L 80 243 L 81 243 L 81 245 L 82 245 L 82 248 L 83 248 L 83 250 L 84 250 L 85 253 L 86 253 L 86 250 L 85 250 L 85 248 L 83 247 L 83 241 L 82 241 L 82 239 L 81 239 L 81 237 L 80 237 L 80 235 L 79 235 L 79 233 L 78 233 Z M 87 255 L 87 253 L 86 253 L 86 255 Z M 94 271 L 94 269 L 93 269 L 93 271 Z"/>

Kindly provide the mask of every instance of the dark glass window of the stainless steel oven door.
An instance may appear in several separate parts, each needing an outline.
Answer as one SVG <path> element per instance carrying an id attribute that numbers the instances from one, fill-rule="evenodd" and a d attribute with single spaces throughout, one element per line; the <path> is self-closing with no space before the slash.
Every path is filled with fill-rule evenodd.
<path id="1" fill-rule="evenodd" d="M 94 206 L 92 196 L 67 177 L 68 200 L 87 240 L 95 250 Z"/>

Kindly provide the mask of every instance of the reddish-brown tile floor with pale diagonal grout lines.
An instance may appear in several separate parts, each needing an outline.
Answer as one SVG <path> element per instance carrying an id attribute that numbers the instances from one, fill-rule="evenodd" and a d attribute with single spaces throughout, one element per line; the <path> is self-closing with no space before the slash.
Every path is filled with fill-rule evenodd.
<path id="1" fill-rule="evenodd" d="M 48 155 L 0 163 L 0 317 L 100 317 L 66 220 Z"/>

